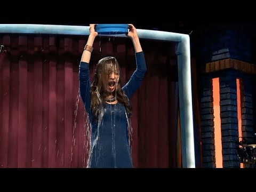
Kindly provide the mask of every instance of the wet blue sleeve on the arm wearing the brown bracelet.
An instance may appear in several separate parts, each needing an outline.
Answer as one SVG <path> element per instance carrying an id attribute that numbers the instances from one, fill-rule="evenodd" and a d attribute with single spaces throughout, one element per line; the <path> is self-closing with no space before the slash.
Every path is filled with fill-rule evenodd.
<path id="1" fill-rule="evenodd" d="M 89 63 L 81 61 L 79 65 L 79 93 L 87 113 L 90 113 L 91 106 L 90 86 L 91 82 Z"/>

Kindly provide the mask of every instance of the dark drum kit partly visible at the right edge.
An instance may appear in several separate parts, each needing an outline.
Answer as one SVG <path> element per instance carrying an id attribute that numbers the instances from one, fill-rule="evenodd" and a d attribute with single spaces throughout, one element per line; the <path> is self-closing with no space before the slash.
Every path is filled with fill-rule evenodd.
<path id="1" fill-rule="evenodd" d="M 243 163 L 245 168 L 256 168 L 256 144 L 247 144 L 244 138 L 238 143 L 237 155 L 239 163 Z"/>

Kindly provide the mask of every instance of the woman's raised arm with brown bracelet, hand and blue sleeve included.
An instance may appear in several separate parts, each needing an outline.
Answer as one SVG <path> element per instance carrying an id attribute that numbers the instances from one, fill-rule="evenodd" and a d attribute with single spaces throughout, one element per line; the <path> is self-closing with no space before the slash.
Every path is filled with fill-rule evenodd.
<path id="1" fill-rule="evenodd" d="M 91 106 L 91 82 L 89 63 L 93 50 L 93 42 L 95 37 L 98 35 L 98 33 L 94 30 L 94 26 L 95 24 L 90 24 L 90 35 L 87 39 L 86 45 L 84 46 L 84 51 L 79 65 L 79 93 L 81 95 L 87 113 L 90 113 Z"/>

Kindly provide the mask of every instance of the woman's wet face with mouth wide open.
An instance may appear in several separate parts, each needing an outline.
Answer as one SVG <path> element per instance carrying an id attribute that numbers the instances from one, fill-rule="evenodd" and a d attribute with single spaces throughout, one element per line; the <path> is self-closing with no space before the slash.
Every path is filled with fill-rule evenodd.
<path id="1" fill-rule="evenodd" d="M 116 86 L 119 82 L 120 73 L 119 70 L 115 70 L 103 80 L 105 91 L 112 93 L 116 90 Z"/>

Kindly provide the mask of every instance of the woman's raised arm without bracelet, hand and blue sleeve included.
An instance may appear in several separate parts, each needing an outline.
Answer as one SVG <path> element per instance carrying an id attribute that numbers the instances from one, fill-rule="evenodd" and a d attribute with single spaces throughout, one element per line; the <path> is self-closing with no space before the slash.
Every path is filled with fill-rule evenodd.
<path id="1" fill-rule="evenodd" d="M 137 30 L 132 24 L 129 24 L 129 26 L 130 26 L 129 33 L 127 35 L 132 39 L 132 43 L 135 50 L 136 66 L 137 66 L 129 82 L 127 82 L 123 86 L 123 90 L 125 94 L 130 99 L 132 97 L 132 94 L 135 93 L 135 91 L 137 91 L 137 89 L 139 88 L 142 82 L 142 79 L 146 74 L 147 66 L 146 66 L 145 56 L 141 48 L 140 39 L 137 34 Z"/>

